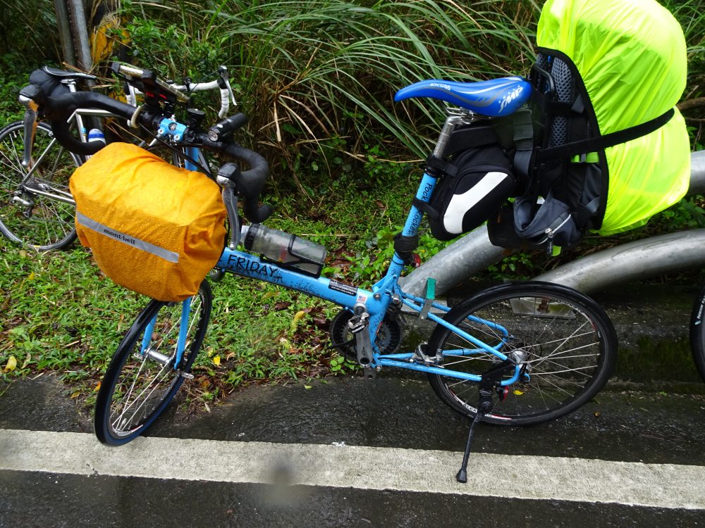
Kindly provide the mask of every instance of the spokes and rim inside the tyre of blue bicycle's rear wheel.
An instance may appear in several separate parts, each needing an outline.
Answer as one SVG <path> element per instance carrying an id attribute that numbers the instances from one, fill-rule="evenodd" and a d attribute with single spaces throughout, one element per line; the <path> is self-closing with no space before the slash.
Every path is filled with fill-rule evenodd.
<path id="1" fill-rule="evenodd" d="M 601 386 L 603 337 L 596 322 L 570 303 L 548 294 L 508 295 L 479 306 L 475 318 L 455 324 L 499 348 L 522 366 L 525 375 L 508 386 L 489 416 L 496 421 L 542 421 L 570 412 L 580 396 Z M 488 322 L 499 323 L 495 327 Z M 508 331 L 503 334 L 501 328 Z M 462 337 L 446 332 L 443 366 L 480 375 L 499 363 Z M 449 351 L 472 350 L 455 356 Z M 474 413 L 478 384 L 441 377 L 443 391 L 465 412 Z M 599 386 L 598 386 L 599 385 Z M 580 400 L 579 400 L 580 398 Z M 460 409 L 459 409 L 460 410 Z"/>

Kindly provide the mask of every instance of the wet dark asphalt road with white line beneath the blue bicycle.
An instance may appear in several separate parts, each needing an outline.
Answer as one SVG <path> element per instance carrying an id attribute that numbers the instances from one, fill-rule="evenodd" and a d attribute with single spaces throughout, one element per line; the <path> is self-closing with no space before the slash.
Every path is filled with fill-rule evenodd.
<path id="1" fill-rule="evenodd" d="M 107 448 L 56 378 L 0 386 L 0 527 L 705 525 L 705 384 L 687 350 L 693 289 L 627 287 L 615 377 L 524 429 L 467 420 L 424 377 L 254 386 L 172 406 Z"/>

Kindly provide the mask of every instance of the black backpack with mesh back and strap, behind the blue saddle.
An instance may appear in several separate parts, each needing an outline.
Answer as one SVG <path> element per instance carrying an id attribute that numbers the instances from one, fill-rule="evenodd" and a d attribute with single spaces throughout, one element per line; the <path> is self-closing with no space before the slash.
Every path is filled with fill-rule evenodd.
<path id="1" fill-rule="evenodd" d="M 492 244 L 513 249 L 575 246 L 599 230 L 610 172 L 605 149 L 654 132 L 673 117 L 600 134 L 580 72 L 560 51 L 541 49 L 529 76 L 529 108 L 515 115 L 513 168 L 520 180 L 512 204 L 488 222 Z"/>

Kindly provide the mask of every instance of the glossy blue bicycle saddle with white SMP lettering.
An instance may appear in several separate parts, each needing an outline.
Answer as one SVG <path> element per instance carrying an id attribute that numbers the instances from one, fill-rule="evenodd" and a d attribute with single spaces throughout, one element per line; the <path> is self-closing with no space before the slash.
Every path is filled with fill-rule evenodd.
<path id="1" fill-rule="evenodd" d="M 501 77 L 480 82 L 425 80 L 400 89 L 394 101 L 431 97 L 474 113 L 499 117 L 515 112 L 531 95 L 531 84 L 522 77 Z"/>

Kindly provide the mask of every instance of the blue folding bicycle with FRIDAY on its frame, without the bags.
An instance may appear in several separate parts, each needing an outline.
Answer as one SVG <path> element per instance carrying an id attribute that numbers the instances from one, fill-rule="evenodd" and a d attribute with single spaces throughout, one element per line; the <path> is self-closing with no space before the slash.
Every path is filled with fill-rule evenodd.
<path id="1" fill-rule="evenodd" d="M 160 89 L 167 93 L 173 88 L 164 84 Z M 467 146 L 471 147 L 474 127 L 513 113 L 527 101 L 531 89 L 520 77 L 484 82 L 423 81 L 398 92 L 396 100 L 431 97 L 457 107 L 449 109 L 432 156 L 443 161 L 454 138 L 470 141 Z M 553 420 L 589 401 L 611 375 L 616 357 L 613 326 L 594 301 L 568 287 L 541 282 L 503 284 L 453 308 L 434 299 L 433 280 L 427 283 L 423 297 L 403 291 L 398 279 L 417 246 L 424 214 L 419 206 L 429 202 L 436 188 L 434 163 L 429 163 L 421 178 L 386 275 L 368 290 L 243 249 L 238 198 L 253 224 L 271 214 L 269 206 L 259 205 L 268 173 L 266 161 L 232 139 L 245 123 L 244 115 L 219 123 L 209 134 L 200 123 L 191 122 L 187 127 L 176 122 L 172 109 L 159 105 L 137 110 L 92 92 L 47 97 L 32 86 L 25 88 L 23 95 L 39 105 L 59 142 L 71 151 L 92 153 L 95 147 L 71 137 L 67 116 L 76 108 L 97 108 L 147 130 L 159 130 L 162 141 L 178 146 L 180 152 L 185 149 L 187 168 L 192 170 L 199 168 L 195 160 L 200 149 L 225 153 L 247 165 L 247 170 L 240 170 L 239 165 L 226 163 L 216 176 L 231 233 L 216 273 L 264 280 L 341 306 L 331 321 L 331 340 L 360 365 L 367 378 L 374 378 L 382 367 L 425 372 L 441 400 L 472 419 L 457 475 L 460 482 L 467 479 L 465 468 L 478 422 L 515 426 Z M 458 131 L 462 133 L 458 135 Z M 144 434 L 180 386 L 193 378 L 190 369 L 202 345 L 211 307 L 211 289 L 204 281 L 192 298 L 181 303 L 153 300 L 137 316 L 100 386 L 94 419 L 100 441 L 121 445 Z M 402 320 L 409 314 L 430 320 L 436 327 L 428 342 L 400 351 Z"/>

